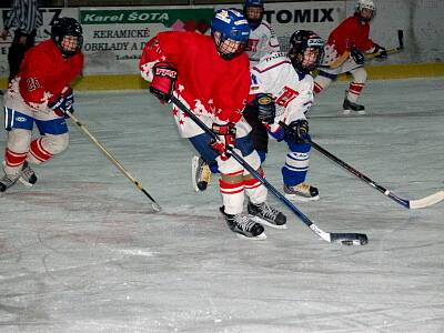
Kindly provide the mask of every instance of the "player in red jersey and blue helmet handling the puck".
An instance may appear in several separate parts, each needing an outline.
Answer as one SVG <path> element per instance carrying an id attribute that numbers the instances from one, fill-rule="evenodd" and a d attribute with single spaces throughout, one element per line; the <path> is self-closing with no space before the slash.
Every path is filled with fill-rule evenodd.
<path id="1" fill-rule="evenodd" d="M 263 226 L 285 228 L 286 218 L 266 203 L 268 191 L 248 173 L 226 148 L 235 148 L 244 160 L 263 174 L 253 149 L 250 125 L 242 110 L 250 90 L 250 68 L 243 52 L 250 27 L 236 10 L 216 10 L 211 36 L 195 32 L 160 32 L 144 47 L 141 75 L 151 82 L 150 91 L 161 102 L 174 94 L 220 138 L 212 142 L 189 117 L 173 107 L 181 137 L 188 138 L 200 155 L 216 160 L 221 173 L 220 211 L 238 235 L 264 239 Z M 244 213 L 244 195 L 249 196 Z M 260 223 L 258 223 L 260 222 Z"/>

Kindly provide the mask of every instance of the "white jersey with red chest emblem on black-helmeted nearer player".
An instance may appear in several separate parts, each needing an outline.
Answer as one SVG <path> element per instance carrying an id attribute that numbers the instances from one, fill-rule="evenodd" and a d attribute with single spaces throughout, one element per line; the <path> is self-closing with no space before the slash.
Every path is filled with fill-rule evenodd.
<path id="1" fill-rule="evenodd" d="M 276 132 L 280 121 L 289 124 L 305 119 L 313 104 L 313 78 L 296 72 L 285 53 L 270 53 L 251 70 L 250 94 L 261 92 L 273 95 L 276 117 L 270 131 Z"/>

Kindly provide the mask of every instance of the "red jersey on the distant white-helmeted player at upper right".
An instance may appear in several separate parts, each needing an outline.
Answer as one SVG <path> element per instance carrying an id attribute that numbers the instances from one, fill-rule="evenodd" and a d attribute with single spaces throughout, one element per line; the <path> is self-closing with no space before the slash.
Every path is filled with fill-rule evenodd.
<path id="1" fill-rule="evenodd" d="M 339 56 L 350 52 L 352 47 L 365 52 L 374 47 L 373 41 L 369 38 L 369 22 L 361 22 L 356 16 L 353 16 L 342 21 L 330 33 L 327 44 L 334 46 Z"/>

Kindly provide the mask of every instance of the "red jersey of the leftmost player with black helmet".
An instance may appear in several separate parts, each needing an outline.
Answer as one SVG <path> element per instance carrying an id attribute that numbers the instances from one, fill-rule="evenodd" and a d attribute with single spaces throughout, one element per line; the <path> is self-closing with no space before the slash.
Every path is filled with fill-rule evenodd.
<path id="1" fill-rule="evenodd" d="M 83 68 L 81 52 L 63 58 L 52 40 L 31 48 L 20 67 L 20 94 L 29 105 L 56 100 Z"/>

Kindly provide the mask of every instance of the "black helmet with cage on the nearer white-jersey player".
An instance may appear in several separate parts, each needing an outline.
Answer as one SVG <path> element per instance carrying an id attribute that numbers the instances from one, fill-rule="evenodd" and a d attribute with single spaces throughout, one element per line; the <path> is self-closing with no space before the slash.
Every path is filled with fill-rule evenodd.
<path id="1" fill-rule="evenodd" d="M 296 71 L 307 74 L 324 59 L 324 40 L 313 31 L 296 30 L 290 38 L 287 56 Z"/>

